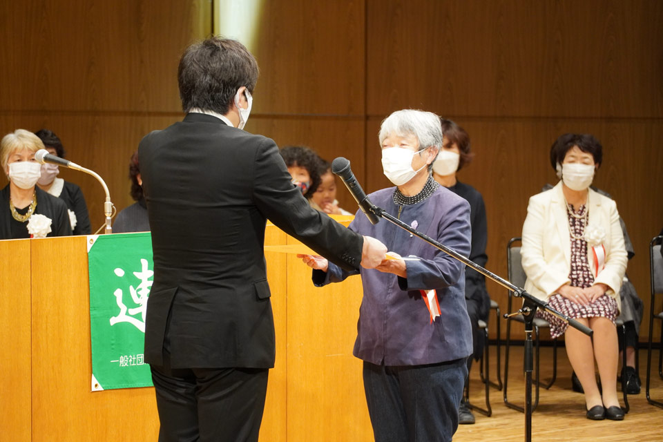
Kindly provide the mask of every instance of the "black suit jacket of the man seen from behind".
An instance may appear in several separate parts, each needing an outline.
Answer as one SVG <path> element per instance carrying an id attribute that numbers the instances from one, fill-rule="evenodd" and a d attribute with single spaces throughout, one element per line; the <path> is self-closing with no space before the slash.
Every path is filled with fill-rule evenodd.
<path id="1" fill-rule="evenodd" d="M 190 113 L 139 147 L 154 252 L 145 360 L 171 367 L 273 367 L 263 254 L 267 218 L 345 269 L 363 240 L 311 209 L 269 138 Z"/>

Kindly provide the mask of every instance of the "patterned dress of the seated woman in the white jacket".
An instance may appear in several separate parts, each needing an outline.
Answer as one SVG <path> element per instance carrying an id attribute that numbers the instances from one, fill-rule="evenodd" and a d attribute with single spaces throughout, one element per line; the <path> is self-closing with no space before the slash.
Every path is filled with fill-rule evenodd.
<path id="1" fill-rule="evenodd" d="M 575 216 L 574 213 L 571 213 L 571 209 L 567 210 L 571 240 L 571 269 L 568 273 L 568 278 L 571 280 L 573 287 L 581 287 L 583 289 L 591 287 L 594 283 L 594 276 L 589 268 L 589 261 L 587 259 L 587 241 L 582 238 L 588 219 L 587 210 L 587 207 L 582 205 L 577 211 L 574 211 Z M 613 324 L 619 314 L 617 301 L 615 298 L 606 294 L 600 296 L 594 302 L 590 302 L 588 305 L 578 304 L 564 298 L 560 294 L 555 294 L 550 296 L 548 305 L 569 318 L 597 318 L 602 316 L 611 320 Z M 557 316 L 541 310 L 537 310 L 536 316 L 550 323 L 550 337 L 557 338 L 566 332 L 568 324 L 557 318 Z"/>

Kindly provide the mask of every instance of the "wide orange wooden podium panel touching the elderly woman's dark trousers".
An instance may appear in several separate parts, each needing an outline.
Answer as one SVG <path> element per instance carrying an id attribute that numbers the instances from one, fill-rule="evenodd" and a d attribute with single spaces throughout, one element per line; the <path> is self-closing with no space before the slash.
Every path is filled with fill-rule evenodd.
<path id="1" fill-rule="evenodd" d="M 352 356 L 361 277 L 315 287 L 311 269 L 294 255 L 287 275 L 288 440 L 372 441 L 363 365 Z"/>

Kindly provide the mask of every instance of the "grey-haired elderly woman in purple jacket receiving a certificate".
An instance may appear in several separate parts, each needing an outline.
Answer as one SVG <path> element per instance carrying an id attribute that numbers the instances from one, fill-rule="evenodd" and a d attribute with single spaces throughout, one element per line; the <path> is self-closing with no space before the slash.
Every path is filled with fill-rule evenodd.
<path id="1" fill-rule="evenodd" d="M 463 256 L 470 254 L 470 205 L 431 175 L 442 145 L 430 112 L 392 113 L 380 129 L 383 171 L 396 185 L 370 199 Z M 465 266 L 386 221 L 357 213 L 350 229 L 385 243 L 390 258 L 361 269 L 363 300 L 354 356 L 363 379 L 376 441 L 451 441 L 472 354 L 465 307 Z M 405 258 L 401 258 L 405 257 Z M 320 256 L 302 256 L 316 286 L 357 272 Z M 439 314 L 438 314 L 439 312 Z"/>

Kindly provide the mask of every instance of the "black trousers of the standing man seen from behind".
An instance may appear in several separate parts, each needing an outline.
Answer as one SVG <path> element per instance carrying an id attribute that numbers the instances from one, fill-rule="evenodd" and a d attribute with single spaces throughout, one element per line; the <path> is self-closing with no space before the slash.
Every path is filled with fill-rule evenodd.
<path id="1" fill-rule="evenodd" d="M 150 368 L 159 442 L 258 441 L 269 369 L 172 369 L 167 353 Z"/>

